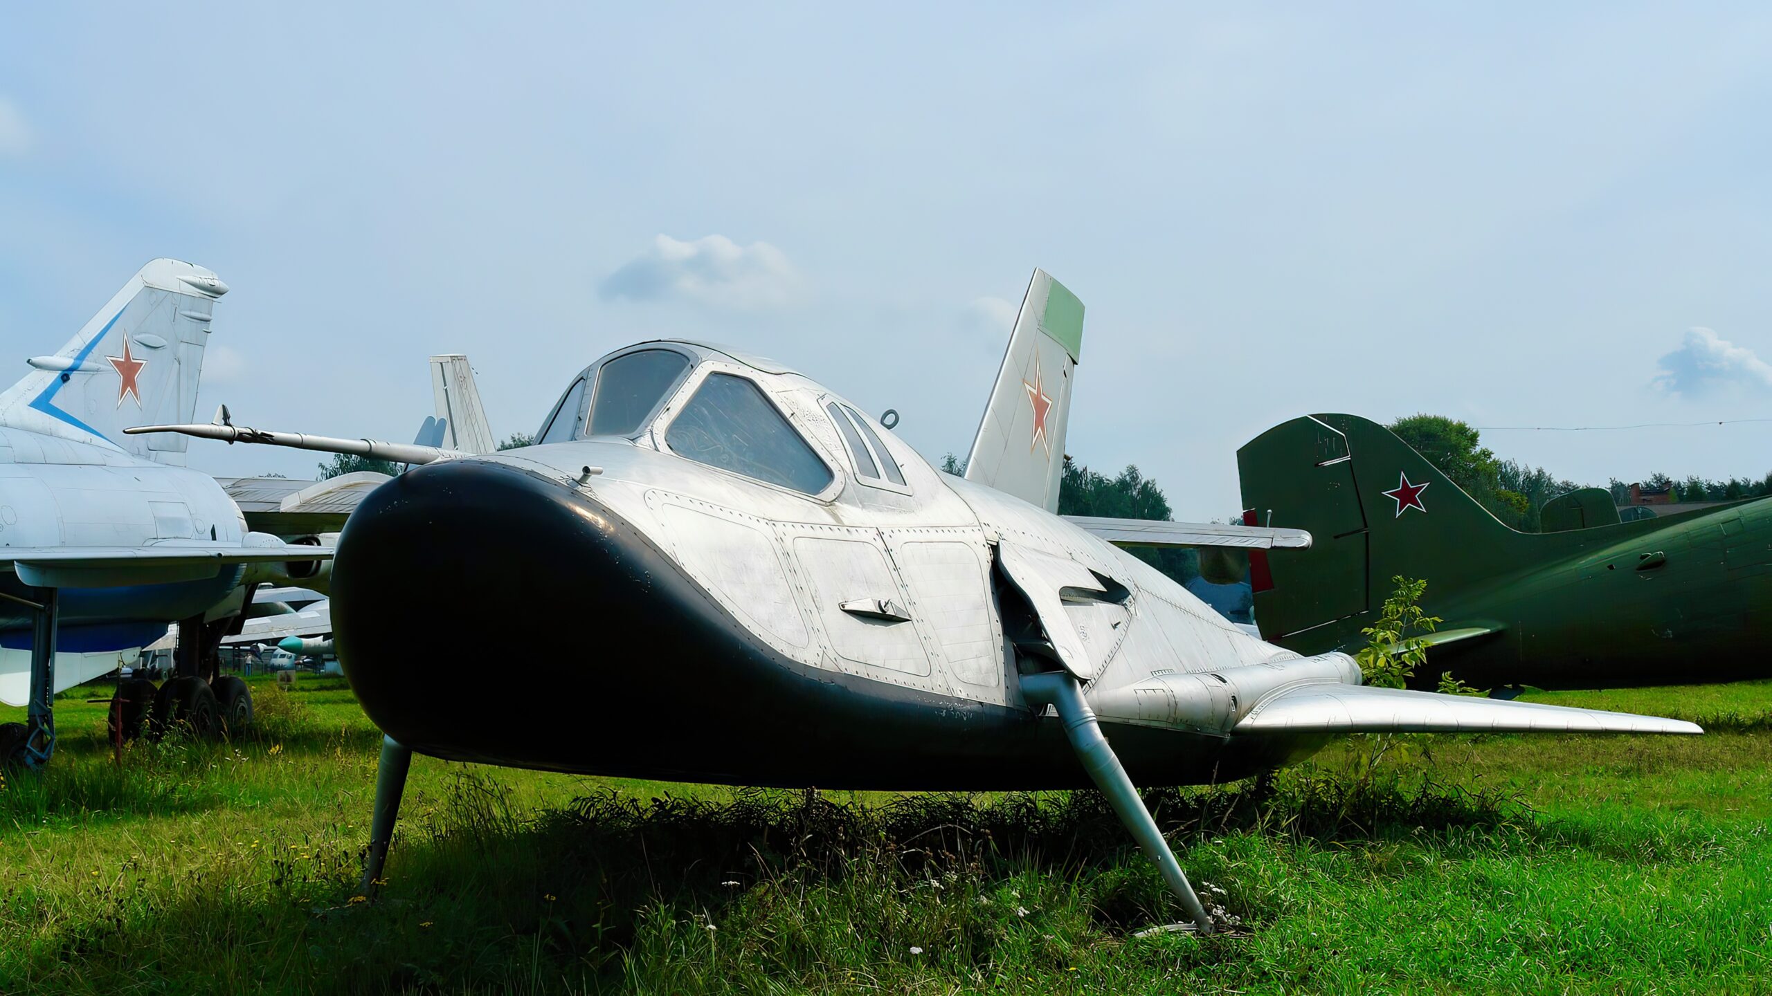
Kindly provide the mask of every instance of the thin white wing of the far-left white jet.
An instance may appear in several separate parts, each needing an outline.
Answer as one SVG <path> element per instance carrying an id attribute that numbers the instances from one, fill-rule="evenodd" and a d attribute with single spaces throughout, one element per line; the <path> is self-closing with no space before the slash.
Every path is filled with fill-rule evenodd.
<path id="1" fill-rule="evenodd" d="M 331 560 L 307 544 L 0 546 L 0 571 L 34 588 L 115 588 L 214 578 L 234 564 Z"/>

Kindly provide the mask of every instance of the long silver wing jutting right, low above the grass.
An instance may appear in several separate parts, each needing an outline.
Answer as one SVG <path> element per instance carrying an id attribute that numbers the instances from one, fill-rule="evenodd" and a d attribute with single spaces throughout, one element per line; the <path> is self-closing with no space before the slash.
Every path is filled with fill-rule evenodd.
<path id="1" fill-rule="evenodd" d="M 1302 684 L 1263 698 L 1235 734 L 1703 734 L 1696 723 L 1357 684 Z"/>

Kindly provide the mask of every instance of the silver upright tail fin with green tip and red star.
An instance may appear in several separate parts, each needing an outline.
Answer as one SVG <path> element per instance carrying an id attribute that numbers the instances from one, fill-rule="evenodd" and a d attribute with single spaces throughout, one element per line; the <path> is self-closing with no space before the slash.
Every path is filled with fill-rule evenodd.
<path id="1" fill-rule="evenodd" d="M 966 457 L 966 480 L 1058 510 L 1070 385 L 1081 353 L 1083 301 L 1035 269 Z"/>

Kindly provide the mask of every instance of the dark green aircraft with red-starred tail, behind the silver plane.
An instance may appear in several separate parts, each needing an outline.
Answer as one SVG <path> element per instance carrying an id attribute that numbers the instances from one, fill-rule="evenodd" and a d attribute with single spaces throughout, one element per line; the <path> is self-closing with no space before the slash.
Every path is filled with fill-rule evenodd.
<path id="1" fill-rule="evenodd" d="M 1572 491 L 1515 532 L 1393 432 L 1310 415 L 1237 450 L 1244 519 L 1310 530 L 1251 555 L 1262 636 L 1301 654 L 1366 643 L 1393 578 L 1442 619 L 1428 673 L 1476 686 L 1600 688 L 1772 675 L 1772 500 L 1620 521 Z"/>

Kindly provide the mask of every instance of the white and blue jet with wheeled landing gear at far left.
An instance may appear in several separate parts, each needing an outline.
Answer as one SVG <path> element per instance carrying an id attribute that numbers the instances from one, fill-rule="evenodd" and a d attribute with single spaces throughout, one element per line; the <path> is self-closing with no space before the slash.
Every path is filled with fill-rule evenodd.
<path id="1" fill-rule="evenodd" d="M 245 682 L 206 659 L 250 585 L 331 556 L 248 532 L 222 486 L 184 468 L 188 440 L 124 434 L 191 416 L 222 294 L 214 273 L 156 259 L 0 393 L 0 700 L 28 707 L 28 723 L 0 725 L 0 762 L 46 762 L 55 693 L 133 659 L 168 622 L 190 634 L 181 673 L 128 682 L 122 727 L 149 707 L 159 721 L 250 718 Z"/>

